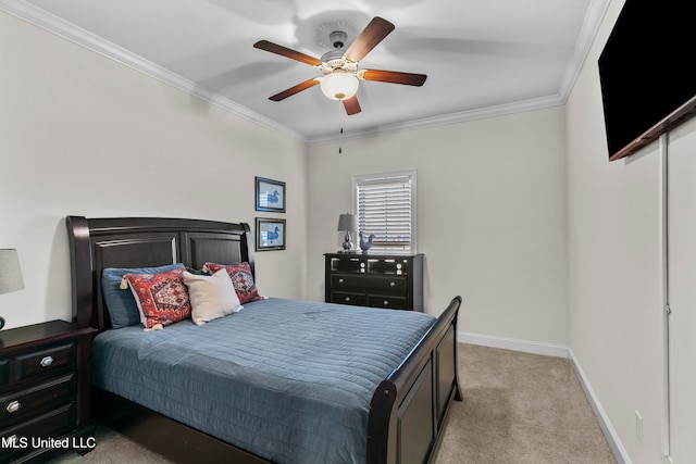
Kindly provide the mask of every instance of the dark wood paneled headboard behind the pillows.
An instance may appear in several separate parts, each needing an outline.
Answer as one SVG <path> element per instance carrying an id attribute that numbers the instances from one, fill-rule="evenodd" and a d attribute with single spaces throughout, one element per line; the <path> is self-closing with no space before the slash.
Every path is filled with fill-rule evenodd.
<path id="1" fill-rule="evenodd" d="M 65 218 L 70 240 L 73 321 L 111 328 L 101 291 L 105 267 L 248 262 L 254 272 L 253 234 L 246 223 L 162 217 Z"/>

